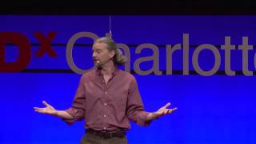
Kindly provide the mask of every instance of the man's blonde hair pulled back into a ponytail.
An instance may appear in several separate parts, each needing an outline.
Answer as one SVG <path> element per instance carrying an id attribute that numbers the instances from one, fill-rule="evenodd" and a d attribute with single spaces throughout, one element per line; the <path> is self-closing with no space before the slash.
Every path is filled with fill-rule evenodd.
<path id="1" fill-rule="evenodd" d="M 94 42 L 106 43 L 108 50 L 110 50 L 110 51 L 114 50 L 114 57 L 113 57 L 114 65 L 120 66 L 120 65 L 124 65 L 126 63 L 126 61 L 127 61 L 126 57 L 124 55 L 122 55 L 122 51 L 117 48 L 117 46 L 112 38 L 102 37 L 102 38 L 96 39 Z"/>

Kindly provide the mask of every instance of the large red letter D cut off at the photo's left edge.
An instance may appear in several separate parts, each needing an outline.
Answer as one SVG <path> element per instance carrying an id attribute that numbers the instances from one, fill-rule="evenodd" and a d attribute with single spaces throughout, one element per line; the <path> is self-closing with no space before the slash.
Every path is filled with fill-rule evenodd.
<path id="1" fill-rule="evenodd" d="M 16 62 L 5 62 L 6 43 L 18 46 L 19 54 Z M 0 72 L 18 72 L 26 69 L 31 58 L 30 42 L 23 34 L 0 32 Z"/>

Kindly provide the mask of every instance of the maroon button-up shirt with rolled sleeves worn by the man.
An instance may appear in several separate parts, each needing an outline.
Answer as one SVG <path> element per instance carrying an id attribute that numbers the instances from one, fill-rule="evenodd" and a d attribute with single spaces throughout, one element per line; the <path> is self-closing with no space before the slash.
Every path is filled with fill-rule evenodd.
<path id="1" fill-rule="evenodd" d="M 144 111 L 142 98 L 134 76 L 115 69 L 109 82 L 104 82 L 100 70 L 83 74 L 72 107 L 66 110 L 74 119 L 63 119 L 72 125 L 85 118 L 85 128 L 112 131 L 130 129 L 129 120 L 148 126 L 149 112 Z"/>

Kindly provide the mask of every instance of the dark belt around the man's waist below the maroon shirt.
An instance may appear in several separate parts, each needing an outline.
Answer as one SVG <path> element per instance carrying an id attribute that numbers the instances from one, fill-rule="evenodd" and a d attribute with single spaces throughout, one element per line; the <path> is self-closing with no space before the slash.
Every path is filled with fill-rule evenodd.
<path id="1" fill-rule="evenodd" d="M 126 131 L 107 132 L 107 131 L 86 130 L 86 133 L 98 136 L 100 138 L 114 138 L 114 137 L 124 138 L 126 136 Z"/>

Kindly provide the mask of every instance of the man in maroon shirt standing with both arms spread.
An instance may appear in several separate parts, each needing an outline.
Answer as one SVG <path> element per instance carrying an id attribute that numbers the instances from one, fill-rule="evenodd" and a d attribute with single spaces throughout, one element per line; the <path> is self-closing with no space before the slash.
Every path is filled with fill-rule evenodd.
<path id="1" fill-rule="evenodd" d="M 152 120 L 177 110 L 168 109 L 170 103 L 155 112 L 144 110 L 136 78 L 118 69 L 126 58 L 112 38 L 96 39 L 92 50 L 95 69 L 82 74 L 72 106 L 55 110 L 43 101 L 46 107 L 34 107 L 35 111 L 62 118 L 69 125 L 85 119 L 82 144 L 126 144 L 130 121 L 149 126 Z"/>

